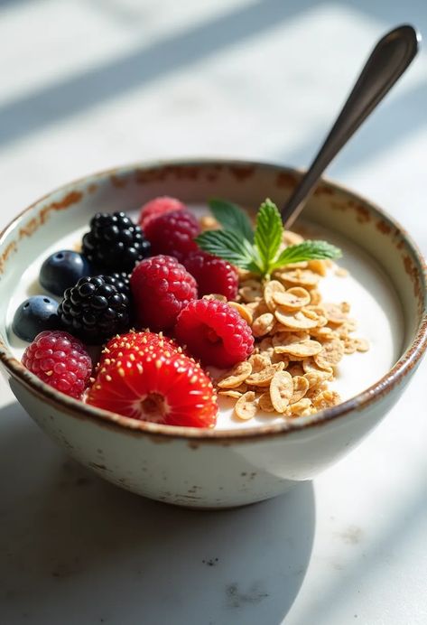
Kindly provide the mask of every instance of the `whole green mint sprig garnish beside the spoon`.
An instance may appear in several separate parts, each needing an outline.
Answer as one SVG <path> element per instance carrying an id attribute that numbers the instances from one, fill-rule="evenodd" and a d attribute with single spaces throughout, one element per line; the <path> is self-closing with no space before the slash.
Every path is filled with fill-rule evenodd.
<path id="1" fill-rule="evenodd" d="M 275 269 L 291 263 L 341 256 L 340 249 L 326 241 L 304 241 L 280 251 L 282 218 L 269 199 L 258 210 L 255 231 L 246 213 L 236 204 L 211 200 L 209 207 L 223 229 L 202 232 L 195 239 L 196 243 L 209 254 L 224 258 L 242 269 L 269 277 Z"/>

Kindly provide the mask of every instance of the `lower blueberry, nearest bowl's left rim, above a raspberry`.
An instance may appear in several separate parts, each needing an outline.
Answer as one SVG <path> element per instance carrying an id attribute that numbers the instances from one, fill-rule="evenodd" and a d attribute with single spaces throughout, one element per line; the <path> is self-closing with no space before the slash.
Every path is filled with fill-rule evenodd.
<path id="1" fill-rule="evenodd" d="M 20 339 L 32 341 L 43 330 L 59 330 L 58 302 L 46 295 L 33 295 L 18 306 L 12 329 Z"/>

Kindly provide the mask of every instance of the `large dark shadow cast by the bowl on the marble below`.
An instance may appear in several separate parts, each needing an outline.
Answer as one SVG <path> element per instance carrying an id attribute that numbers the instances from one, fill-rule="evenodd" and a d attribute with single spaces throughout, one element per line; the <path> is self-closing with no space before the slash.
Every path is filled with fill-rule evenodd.
<path id="1" fill-rule="evenodd" d="M 311 483 L 218 512 L 139 498 L 0 410 L 3 622 L 279 625 L 311 557 Z"/>

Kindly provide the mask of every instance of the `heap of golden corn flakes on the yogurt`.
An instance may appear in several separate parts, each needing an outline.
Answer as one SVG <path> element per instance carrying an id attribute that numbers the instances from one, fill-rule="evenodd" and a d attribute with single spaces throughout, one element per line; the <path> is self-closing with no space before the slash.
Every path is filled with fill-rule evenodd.
<path id="1" fill-rule="evenodd" d="M 289 230 L 283 234 L 285 247 L 302 240 Z M 249 420 L 258 410 L 292 419 L 339 404 L 330 388 L 335 368 L 369 345 L 353 335 L 357 323 L 348 317 L 349 303 L 322 302 L 320 281 L 329 270 L 345 273 L 329 261 L 311 260 L 276 270 L 263 284 L 238 269 L 237 302 L 229 305 L 251 326 L 254 352 L 216 381 L 219 396 L 237 400 L 238 419 Z"/>

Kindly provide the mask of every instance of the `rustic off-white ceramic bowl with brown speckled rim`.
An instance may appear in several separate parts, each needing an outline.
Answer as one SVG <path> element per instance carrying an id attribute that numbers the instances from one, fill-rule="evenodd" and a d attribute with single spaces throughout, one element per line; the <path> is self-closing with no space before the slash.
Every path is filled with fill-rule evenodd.
<path id="1" fill-rule="evenodd" d="M 53 191 L 14 219 L 0 238 L 0 357 L 10 387 L 42 430 L 70 456 L 127 490 L 172 504 L 227 508 L 268 499 L 310 480 L 357 445 L 395 404 L 427 343 L 426 273 L 393 219 L 356 193 L 321 182 L 304 210 L 362 247 L 382 266 L 402 304 L 404 344 L 393 368 L 348 401 L 311 417 L 207 431 L 137 422 L 97 410 L 44 385 L 11 350 L 6 311 L 24 270 L 43 250 L 88 224 L 97 210 L 137 209 L 157 195 L 258 206 L 284 202 L 300 173 L 235 161 L 136 164 Z"/>

